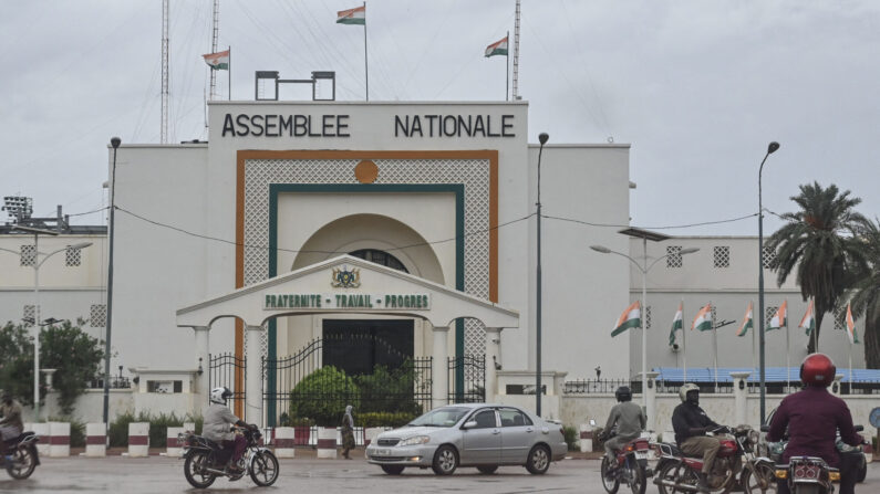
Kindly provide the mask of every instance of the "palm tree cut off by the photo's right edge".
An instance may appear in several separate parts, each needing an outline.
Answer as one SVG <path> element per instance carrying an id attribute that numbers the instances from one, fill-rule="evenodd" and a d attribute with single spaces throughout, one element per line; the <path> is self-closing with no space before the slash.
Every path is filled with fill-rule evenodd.
<path id="1" fill-rule="evenodd" d="M 868 222 L 860 229 L 868 269 L 852 285 L 853 316 L 865 320 L 865 364 L 869 369 L 880 369 L 880 220 Z"/>

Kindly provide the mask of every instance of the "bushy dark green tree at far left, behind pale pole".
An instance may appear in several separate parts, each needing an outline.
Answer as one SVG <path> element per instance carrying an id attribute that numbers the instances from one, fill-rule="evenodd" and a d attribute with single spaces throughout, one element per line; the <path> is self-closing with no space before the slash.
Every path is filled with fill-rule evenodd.
<path id="1" fill-rule="evenodd" d="M 77 322 L 82 325 L 83 322 Z M 7 323 L 0 329 L 0 388 L 12 391 L 23 404 L 33 404 L 33 340 L 22 325 Z M 76 398 L 89 380 L 99 375 L 104 358 L 103 343 L 64 320 L 40 332 L 40 367 L 56 369 L 52 388 L 65 416 L 73 412 Z M 45 398 L 45 377 L 40 376 L 40 399 Z"/>

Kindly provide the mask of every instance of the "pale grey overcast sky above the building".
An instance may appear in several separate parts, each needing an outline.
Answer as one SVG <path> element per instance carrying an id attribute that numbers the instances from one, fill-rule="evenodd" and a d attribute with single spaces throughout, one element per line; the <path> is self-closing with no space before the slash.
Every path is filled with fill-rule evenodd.
<path id="1" fill-rule="evenodd" d="M 220 2 L 232 99 L 253 72 L 337 71 L 360 101 L 363 30 L 335 24 L 349 0 Z M 504 99 L 514 0 L 367 2 L 371 101 Z M 34 216 L 101 208 L 106 145 L 158 143 L 161 0 L 3 1 L 0 195 Z M 170 0 L 169 141 L 205 139 L 210 0 Z M 632 222 L 655 228 L 794 210 L 798 185 L 849 189 L 880 216 L 880 2 L 522 0 L 519 93 L 529 140 L 632 145 Z M 511 43 L 513 55 L 513 43 Z M 226 95 L 227 73 L 218 91 Z M 105 212 L 79 224 L 104 224 Z M 0 221 L 6 214 L 0 213 Z M 590 218 L 582 218 L 589 221 Z M 778 228 L 770 217 L 768 232 Z M 667 231 L 669 232 L 669 231 Z M 675 234 L 757 234 L 754 218 Z"/>

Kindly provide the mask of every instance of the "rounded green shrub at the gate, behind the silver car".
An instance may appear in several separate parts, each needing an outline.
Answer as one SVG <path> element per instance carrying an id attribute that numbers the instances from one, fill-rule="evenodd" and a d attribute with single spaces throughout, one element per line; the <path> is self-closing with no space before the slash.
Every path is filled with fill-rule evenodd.
<path id="1" fill-rule="evenodd" d="M 333 366 L 325 366 L 297 383 L 290 392 L 290 402 L 291 417 L 308 417 L 318 425 L 334 427 L 341 423 L 345 406 L 358 410 L 361 393 L 354 379 Z"/>

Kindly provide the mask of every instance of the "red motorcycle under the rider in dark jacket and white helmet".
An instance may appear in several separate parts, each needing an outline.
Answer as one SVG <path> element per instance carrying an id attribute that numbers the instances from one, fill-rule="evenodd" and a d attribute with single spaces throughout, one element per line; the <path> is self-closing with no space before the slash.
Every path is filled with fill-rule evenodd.
<path id="1" fill-rule="evenodd" d="M 724 433 L 725 438 L 721 440 L 712 473 L 706 480 L 711 492 L 728 493 L 737 486 L 742 486 L 746 494 L 776 491 L 773 461 L 758 456 L 756 452 L 758 431 L 738 425 L 732 431 L 726 427 L 718 428 L 713 433 Z M 685 456 L 675 443 L 661 442 L 653 446 L 660 456 L 654 479 L 660 493 L 696 492 L 703 459 Z"/>

